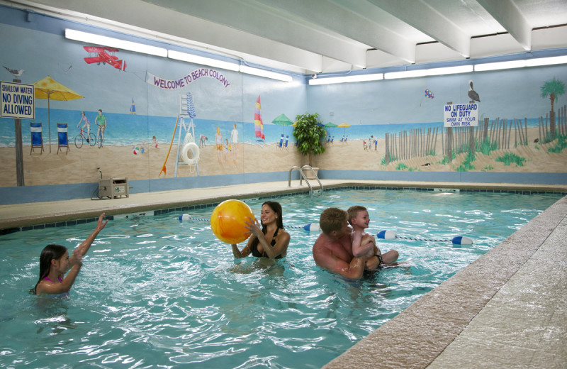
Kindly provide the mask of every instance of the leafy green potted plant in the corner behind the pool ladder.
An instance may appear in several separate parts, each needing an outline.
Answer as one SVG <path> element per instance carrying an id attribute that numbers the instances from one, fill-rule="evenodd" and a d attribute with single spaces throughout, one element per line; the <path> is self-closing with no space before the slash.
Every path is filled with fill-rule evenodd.
<path id="1" fill-rule="evenodd" d="M 305 113 L 296 116 L 296 128 L 293 129 L 293 137 L 296 138 L 299 152 L 303 155 L 308 155 L 310 167 L 313 167 L 311 165 L 313 163 L 313 155 L 325 153 L 325 146 L 323 146 L 325 136 L 327 136 L 327 131 L 323 128 L 319 114 Z M 305 175 L 313 174 L 310 173 L 310 170 L 308 172 Z"/>

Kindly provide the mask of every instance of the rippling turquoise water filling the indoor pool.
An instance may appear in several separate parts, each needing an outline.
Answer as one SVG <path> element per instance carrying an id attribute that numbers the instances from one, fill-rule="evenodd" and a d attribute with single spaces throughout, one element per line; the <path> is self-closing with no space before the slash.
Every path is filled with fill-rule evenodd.
<path id="1" fill-rule="evenodd" d="M 374 234 L 474 241 L 378 241 L 383 252 L 398 250 L 402 266 L 357 281 L 315 265 L 318 233 L 288 228 L 286 258 L 238 260 L 206 222 L 170 213 L 109 221 L 69 298 L 36 297 L 28 291 L 42 248 L 74 248 L 95 224 L 11 233 L 0 237 L 0 365 L 320 368 L 560 198 L 373 189 L 273 199 L 284 226 L 318 223 L 329 206 L 361 204 Z M 264 201 L 247 204 L 259 216 Z M 206 219 L 212 210 L 191 215 Z"/>

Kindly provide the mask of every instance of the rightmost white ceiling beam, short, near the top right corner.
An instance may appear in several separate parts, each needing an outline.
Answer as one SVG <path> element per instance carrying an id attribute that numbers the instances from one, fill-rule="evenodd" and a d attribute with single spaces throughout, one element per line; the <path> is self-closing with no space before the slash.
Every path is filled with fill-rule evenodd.
<path id="1" fill-rule="evenodd" d="M 532 50 L 532 27 L 512 0 L 477 0 L 478 4 L 503 26 L 524 50 Z"/>

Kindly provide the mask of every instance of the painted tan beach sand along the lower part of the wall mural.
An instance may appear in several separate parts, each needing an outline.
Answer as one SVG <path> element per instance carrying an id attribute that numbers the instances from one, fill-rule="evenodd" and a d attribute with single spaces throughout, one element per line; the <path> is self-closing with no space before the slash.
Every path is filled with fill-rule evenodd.
<path id="1" fill-rule="evenodd" d="M 513 137 L 515 130 L 511 130 Z M 471 172 L 565 172 L 567 169 L 567 150 L 559 153 L 549 151 L 558 140 L 541 144 L 538 128 L 527 128 L 527 145 L 492 150 L 488 155 L 477 152 L 474 160 L 464 167 Z M 325 143 L 326 151 L 313 158 L 313 166 L 329 170 L 405 170 L 422 172 L 454 172 L 467 160 L 467 153 L 456 154 L 447 163 L 442 154 L 442 136 L 434 143 L 435 155 L 418 156 L 405 160 L 384 163 L 386 155 L 385 139 L 378 139 L 377 145 L 364 148 L 363 140 Z M 47 146 L 47 145 L 46 145 Z M 167 147 L 145 147 L 144 153 L 133 154 L 130 146 L 105 145 L 103 148 L 84 145 L 77 149 L 71 146 L 69 153 L 57 154 L 57 145 L 52 144 L 52 153 L 45 147 L 42 154 L 30 155 L 30 146 L 23 147 L 23 167 L 26 186 L 46 184 L 94 183 L 99 179 L 97 168 L 104 177 L 128 177 L 128 180 L 171 178 L 175 173 L 176 144 L 167 161 L 167 175 L 159 175 L 167 155 Z M 376 150 L 375 150 L 376 148 Z M 220 152 L 215 145 L 204 145 L 196 166 L 179 164 L 177 177 L 196 177 L 197 175 L 228 175 L 257 172 L 285 172 L 293 165 L 307 164 L 291 144 L 288 148 L 278 148 L 276 143 L 254 145 L 239 143 L 236 155 L 226 148 Z M 510 159 L 512 158 L 512 159 Z M 445 160 L 444 160 L 445 159 Z M 500 159 L 504 161 L 500 161 Z M 14 148 L 0 148 L 0 186 L 16 186 L 16 163 Z"/>

